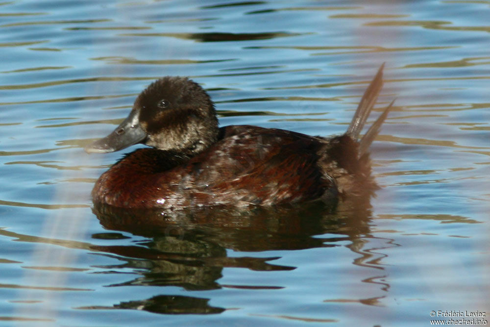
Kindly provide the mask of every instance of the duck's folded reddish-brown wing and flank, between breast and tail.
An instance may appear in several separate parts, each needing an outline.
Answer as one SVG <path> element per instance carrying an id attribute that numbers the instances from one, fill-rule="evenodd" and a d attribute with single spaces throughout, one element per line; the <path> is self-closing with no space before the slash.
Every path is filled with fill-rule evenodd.
<path id="1" fill-rule="evenodd" d="M 194 188 L 213 194 L 214 201 L 291 203 L 320 198 L 335 188 L 318 165 L 318 139 L 257 126 L 226 128 L 226 137 L 209 154 L 190 161 L 198 172 Z"/>

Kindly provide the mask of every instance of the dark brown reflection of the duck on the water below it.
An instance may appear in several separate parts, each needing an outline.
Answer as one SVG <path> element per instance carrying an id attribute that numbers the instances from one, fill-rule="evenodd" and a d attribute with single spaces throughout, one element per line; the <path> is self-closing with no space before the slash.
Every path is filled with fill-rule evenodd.
<path id="1" fill-rule="evenodd" d="M 130 268 L 139 274 L 135 279 L 111 286 L 180 286 L 186 290 L 221 287 L 276 289 L 281 287 L 218 283 L 225 267 L 257 271 L 296 268 L 270 263 L 279 257 L 229 257 L 226 250 L 301 250 L 334 247 L 336 242 L 345 240 L 351 242 L 349 248 L 352 251 L 358 252 L 364 244 L 361 238 L 369 233 L 370 205 L 368 200 L 362 201 L 369 198 L 356 197 L 329 205 L 311 202 L 273 208 L 202 207 L 162 211 L 95 205 L 93 210 L 105 228 L 148 238 L 138 246 L 98 249 L 117 254 L 126 261 L 112 267 L 115 270 Z M 322 234 L 329 235 L 314 237 Z M 208 299 L 166 295 L 121 302 L 114 308 L 138 308 L 161 313 L 219 313 L 224 310 L 209 306 Z"/>

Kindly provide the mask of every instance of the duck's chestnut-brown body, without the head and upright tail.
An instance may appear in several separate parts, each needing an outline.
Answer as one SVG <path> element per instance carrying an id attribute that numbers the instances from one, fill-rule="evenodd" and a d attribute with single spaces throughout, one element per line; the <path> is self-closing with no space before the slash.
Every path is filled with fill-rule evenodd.
<path id="1" fill-rule="evenodd" d="M 92 196 L 119 207 L 165 208 L 331 199 L 337 185 L 326 170 L 337 164 L 328 159 L 330 143 L 281 129 L 221 127 L 219 141 L 191 159 L 156 149 L 130 153 L 100 176 Z"/>

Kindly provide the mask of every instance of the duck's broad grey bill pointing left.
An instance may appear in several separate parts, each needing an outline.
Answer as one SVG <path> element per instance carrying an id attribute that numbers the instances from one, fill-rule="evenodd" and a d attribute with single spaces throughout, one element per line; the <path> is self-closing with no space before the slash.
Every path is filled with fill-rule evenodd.
<path id="1" fill-rule="evenodd" d="M 138 113 L 131 111 L 131 114 L 112 133 L 86 146 L 85 152 L 106 153 L 119 151 L 141 143 L 146 138 L 147 133 L 140 127 Z"/>

